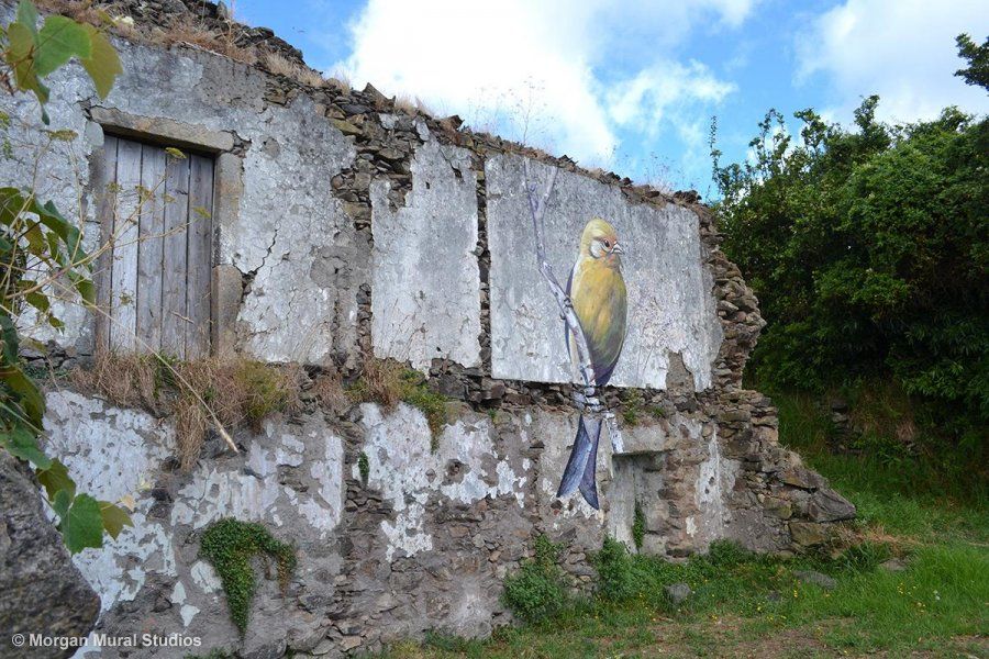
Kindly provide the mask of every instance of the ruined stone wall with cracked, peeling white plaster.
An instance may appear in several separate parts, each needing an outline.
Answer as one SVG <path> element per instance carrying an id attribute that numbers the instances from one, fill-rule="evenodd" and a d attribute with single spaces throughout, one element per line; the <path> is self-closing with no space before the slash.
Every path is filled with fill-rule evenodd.
<path id="1" fill-rule="evenodd" d="M 307 88 L 186 46 L 118 46 L 124 75 L 108 99 L 74 65 L 52 80 L 52 127 L 78 137 L 42 160 L 43 198 L 85 216 L 95 245 L 87 164 L 104 134 L 214 154 L 214 351 L 345 378 L 371 356 L 393 358 L 451 402 L 433 437 L 410 405 L 336 413 L 305 395 L 302 412 L 238 435 L 240 455 L 214 438 L 186 472 L 169 418 L 52 391 L 49 451 L 85 491 L 136 500 L 133 528 L 75 558 L 101 596 L 101 630 L 181 630 L 249 657 L 374 649 L 431 628 L 482 635 L 510 621 L 501 582 L 538 533 L 565 543 L 566 569 L 587 585 L 605 535 L 632 546 L 636 507 L 642 551 L 671 558 L 718 538 L 802 551 L 854 514 L 779 446 L 770 401 L 742 388 L 764 322 L 694 194 L 666 197 L 455 119 L 412 115 L 370 87 Z M 14 129 L 21 138 L 43 139 L 33 101 L 0 105 L 27 122 Z M 635 390 L 651 412 L 635 424 L 620 416 L 621 436 L 602 443 L 600 511 L 554 496 L 577 422 L 523 158 L 537 183 L 562 170 L 547 212 L 557 272 L 590 216 L 634 249 L 627 345 L 603 395 L 621 409 Z M 2 185 L 30 185 L 26 172 L 0 161 Z M 63 316 L 63 333 L 38 335 L 47 358 L 85 364 L 93 320 L 74 308 Z M 287 592 L 262 581 L 243 640 L 198 557 L 202 529 L 223 516 L 264 522 L 299 557 Z"/>

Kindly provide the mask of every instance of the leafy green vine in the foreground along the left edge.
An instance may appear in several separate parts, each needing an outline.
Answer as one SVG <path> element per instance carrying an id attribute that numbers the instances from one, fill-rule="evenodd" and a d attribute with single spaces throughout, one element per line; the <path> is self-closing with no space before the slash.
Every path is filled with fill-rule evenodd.
<path id="1" fill-rule="evenodd" d="M 37 23 L 34 4 L 21 0 L 15 20 L 2 31 L 0 75 L 8 89 L 35 94 L 47 124 L 48 89 L 42 82 L 46 76 L 76 57 L 97 92 L 105 97 L 121 68 L 110 42 L 92 25 L 57 15 L 47 16 L 40 30 Z M 0 120 L 4 129 L 9 126 L 9 116 Z M 47 134 L 49 141 L 75 137 L 67 131 Z M 63 327 L 52 305 L 51 287 L 56 282 L 65 286 L 62 282 L 67 281 L 65 288 L 77 293 L 82 304 L 92 304 L 91 256 L 82 248 L 79 227 L 54 203 L 42 202 L 33 190 L 5 187 L 0 188 L 0 263 L 4 266 L 0 276 L 0 448 L 34 467 L 69 551 L 101 547 L 104 533 L 115 538 L 131 520 L 122 507 L 76 492 L 65 465 L 38 448 L 45 399 L 25 372 L 20 356 L 23 337 L 16 327 L 16 319 L 29 308 L 56 330 Z"/>

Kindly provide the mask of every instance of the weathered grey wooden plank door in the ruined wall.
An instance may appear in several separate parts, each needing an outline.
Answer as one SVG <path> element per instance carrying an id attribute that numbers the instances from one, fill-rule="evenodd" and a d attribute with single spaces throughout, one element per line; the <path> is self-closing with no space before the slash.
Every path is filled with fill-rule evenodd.
<path id="1" fill-rule="evenodd" d="M 108 135 L 95 182 L 103 244 L 97 343 L 192 359 L 210 353 L 213 160 Z M 104 315 L 105 314 L 105 315 Z"/>

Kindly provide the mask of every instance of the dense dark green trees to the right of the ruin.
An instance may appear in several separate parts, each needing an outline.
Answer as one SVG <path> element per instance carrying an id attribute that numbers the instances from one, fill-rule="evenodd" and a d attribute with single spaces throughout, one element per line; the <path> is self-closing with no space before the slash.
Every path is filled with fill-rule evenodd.
<path id="1" fill-rule="evenodd" d="M 892 378 L 958 434 L 989 420 L 989 121 L 892 126 L 877 103 L 854 131 L 798 112 L 799 142 L 770 111 L 742 165 L 712 146 L 724 249 L 769 322 L 753 366 L 777 388 Z"/>

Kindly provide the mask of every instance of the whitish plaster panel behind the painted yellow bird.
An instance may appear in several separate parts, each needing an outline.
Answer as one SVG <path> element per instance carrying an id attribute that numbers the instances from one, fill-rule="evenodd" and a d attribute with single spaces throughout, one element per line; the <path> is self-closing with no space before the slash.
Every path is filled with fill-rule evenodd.
<path id="1" fill-rule="evenodd" d="M 549 167 L 531 164 L 538 191 Z M 496 378 L 570 381 L 564 322 L 536 264 L 523 159 L 488 158 L 488 242 L 491 250 L 491 367 Z M 580 234 L 592 217 L 614 225 L 626 254 L 629 330 L 611 379 L 619 387 L 665 389 L 669 353 L 679 353 L 698 390 L 711 386 L 721 345 L 713 281 L 703 264 L 697 215 L 669 204 L 633 204 L 618 188 L 560 171 L 546 215 L 546 252 L 565 286 Z"/>

